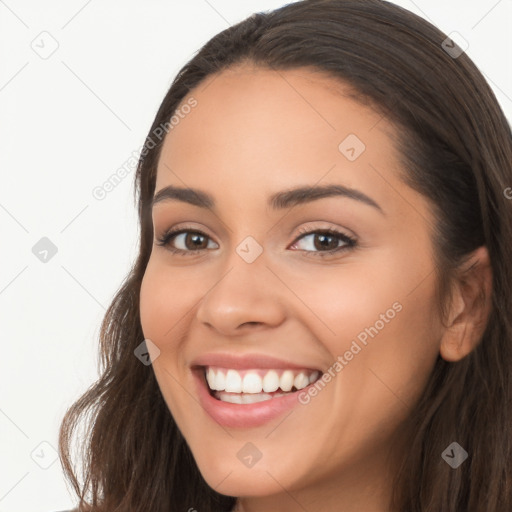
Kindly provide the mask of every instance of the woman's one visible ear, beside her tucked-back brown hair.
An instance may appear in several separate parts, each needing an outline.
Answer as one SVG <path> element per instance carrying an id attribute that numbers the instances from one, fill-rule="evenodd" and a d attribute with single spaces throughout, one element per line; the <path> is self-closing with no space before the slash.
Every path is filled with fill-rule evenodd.
<path id="1" fill-rule="evenodd" d="M 492 267 L 487 247 L 476 249 L 459 269 L 440 354 L 459 361 L 474 350 L 484 334 L 492 306 Z"/>

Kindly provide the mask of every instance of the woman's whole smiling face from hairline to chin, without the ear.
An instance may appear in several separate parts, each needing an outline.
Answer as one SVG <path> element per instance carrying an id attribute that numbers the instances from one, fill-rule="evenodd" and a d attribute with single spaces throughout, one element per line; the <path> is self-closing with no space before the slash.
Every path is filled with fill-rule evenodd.
<path id="1" fill-rule="evenodd" d="M 224 71 L 164 141 L 141 322 L 222 494 L 377 482 L 439 353 L 429 204 L 399 178 L 392 126 L 343 87 Z"/>

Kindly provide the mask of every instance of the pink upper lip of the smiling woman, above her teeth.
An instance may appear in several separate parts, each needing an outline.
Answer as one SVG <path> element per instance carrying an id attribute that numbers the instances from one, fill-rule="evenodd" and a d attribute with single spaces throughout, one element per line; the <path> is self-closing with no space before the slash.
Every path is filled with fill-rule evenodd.
<path id="1" fill-rule="evenodd" d="M 320 371 L 318 368 L 311 367 L 308 364 L 293 363 L 291 361 L 285 361 L 284 359 L 278 359 L 273 356 L 257 353 L 235 355 L 232 352 L 211 352 L 208 354 L 202 354 L 192 361 L 191 367 L 198 366 L 217 366 L 220 368 L 232 368 L 239 370 L 249 370 L 251 368 L 290 368 L 297 370 L 311 369 Z"/>

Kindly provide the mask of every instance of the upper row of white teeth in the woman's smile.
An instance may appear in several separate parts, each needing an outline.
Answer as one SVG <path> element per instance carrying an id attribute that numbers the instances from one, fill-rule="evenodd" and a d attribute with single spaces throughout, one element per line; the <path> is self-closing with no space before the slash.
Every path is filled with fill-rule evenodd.
<path id="1" fill-rule="evenodd" d="M 279 376 L 279 373 L 281 376 Z M 285 393 L 295 389 L 303 389 L 315 382 L 320 372 L 305 370 L 242 370 L 208 367 L 206 380 L 213 391 L 227 393 L 261 394 L 274 393 L 278 389 Z M 275 394 L 274 396 L 277 396 Z M 229 399 L 230 400 L 230 399 Z M 229 401 L 227 400 L 227 401 Z M 237 400 L 237 399 L 236 399 Z M 238 403 L 234 402 L 234 403 Z M 245 403 L 245 402 L 242 402 Z M 247 402 L 249 403 L 249 402 Z M 250 402 L 252 403 L 252 402 Z"/>

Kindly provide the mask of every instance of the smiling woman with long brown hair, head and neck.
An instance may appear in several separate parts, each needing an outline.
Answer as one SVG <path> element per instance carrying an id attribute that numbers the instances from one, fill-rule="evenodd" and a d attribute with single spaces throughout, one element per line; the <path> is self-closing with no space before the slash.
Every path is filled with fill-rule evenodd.
<path id="1" fill-rule="evenodd" d="M 475 65 L 393 4 L 211 39 L 146 139 L 139 256 L 61 427 L 79 510 L 511 510 L 511 162 Z"/>

